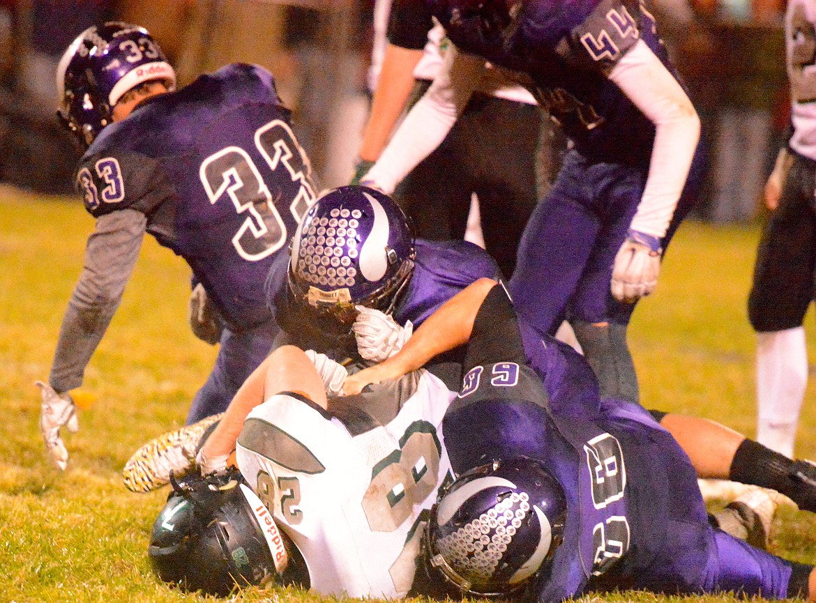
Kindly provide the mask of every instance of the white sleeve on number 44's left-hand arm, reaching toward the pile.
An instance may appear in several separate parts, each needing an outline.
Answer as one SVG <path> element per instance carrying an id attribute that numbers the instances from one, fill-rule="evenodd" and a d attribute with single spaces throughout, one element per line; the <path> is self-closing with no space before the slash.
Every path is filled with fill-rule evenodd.
<path id="1" fill-rule="evenodd" d="M 391 194 L 445 140 L 486 69 L 485 60 L 451 46 L 431 87 L 414 105 L 375 165 L 361 179 Z"/>

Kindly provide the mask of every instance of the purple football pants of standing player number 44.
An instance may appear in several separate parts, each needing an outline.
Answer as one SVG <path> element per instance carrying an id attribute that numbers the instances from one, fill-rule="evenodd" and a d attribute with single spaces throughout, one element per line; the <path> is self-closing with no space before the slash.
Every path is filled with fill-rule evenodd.
<path id="1" fill-rule="evenodd" d="M 692 169 L 687 189 L 697 180 Z M 648 166 L 596 162 L 575 150 L 566 154 L 552 190 L 527 223 L 508 283 L 517 310 L 534 326 L 552 333 L 565 318 L 628 324 L 635 304 L 612 297 L 612 265 L 647 174 Z M 681 197 L 664 250 L 695 197 L 690 190 Z"/>

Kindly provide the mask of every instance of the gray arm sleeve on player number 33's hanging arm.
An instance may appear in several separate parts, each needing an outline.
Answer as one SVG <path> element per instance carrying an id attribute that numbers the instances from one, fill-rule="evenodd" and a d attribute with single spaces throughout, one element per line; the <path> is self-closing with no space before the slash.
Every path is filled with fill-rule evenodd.
<path id="1" fill-rule="evenodd" d="M 85 248 L 85 265 L 62 319 L 51 365 L 57 392 L 82 385 L 82 375 L 100 344 L 142 246 L 147 218 L 140 211 L 113 211 L 96 219 Z"/>

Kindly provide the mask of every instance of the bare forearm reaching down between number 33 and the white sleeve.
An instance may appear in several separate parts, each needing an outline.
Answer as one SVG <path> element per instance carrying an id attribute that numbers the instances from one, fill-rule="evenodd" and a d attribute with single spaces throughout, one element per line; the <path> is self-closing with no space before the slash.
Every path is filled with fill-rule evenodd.
<path id="1" fill-rule="evenodd" d="M 401 48 L 388 44 L 385 49 L 382 71 L 371 103 L 371 113 L 363 131 L 359 157 L 375 162 L 405 110 L 408 97 L 414 87 L 414 68 L 422 58 L 423 51 Z"/>

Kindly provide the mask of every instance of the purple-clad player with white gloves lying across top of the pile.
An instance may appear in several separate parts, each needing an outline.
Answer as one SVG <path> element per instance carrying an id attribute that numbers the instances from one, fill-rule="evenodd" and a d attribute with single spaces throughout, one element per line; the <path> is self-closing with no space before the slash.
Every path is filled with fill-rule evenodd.
<path id="1" fill-rule="evenodd" d="M 269 273 L 269 303 L 282 327 L 274 347 L 321 352 L 317 362 L 326 379 L 342 383 L 346 366 L 388 358 L 448 299 L 498 273 L 486 251 L 471 243 L 411 241 L 405 215 L 388 195 L 348 186 L 318 199 L 293 237 L 291 258 L 276 259 Z M 568 407 L 594 391 L 591 376 L 568 370 L 579 365 L 563 361 L 565 344 L 550 343 L 531 322 L 524 333 L 530 366 L 545 384 L 552 382 L 553 404 Z M 435 360 L 451 389 L 458 388 L 462 361 L 461 347 Z M 816 491 L 807 486 L 816 477 L 812 463 L 785 459 L 720 423 L 651 412 L 690 455 L 699 477 L 774 488 L 816 511 Z M 194 449 L 188 446 L 186 454 Z"/>

